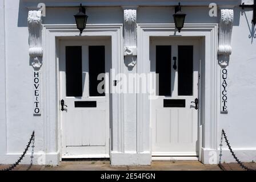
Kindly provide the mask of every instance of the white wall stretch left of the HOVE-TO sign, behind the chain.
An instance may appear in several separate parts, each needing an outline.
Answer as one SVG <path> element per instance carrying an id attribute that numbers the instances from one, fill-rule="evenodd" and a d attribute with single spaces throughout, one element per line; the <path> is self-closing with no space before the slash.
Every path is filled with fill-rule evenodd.
<path id="1" fill-rule="evenodd" d="M 6 75 L 1 76 L 1 94 L 5 93 L 6 81 L 6 109 L 1 105 L 1 111 L 6 110 L 6 119 L 1 124 L 6 123 L 6 127 L 1 127 L 1 133 L 6 131 L 3 139 L 7 138 L 7 140 L 6 144 L 5 142 L 0 144 L 1 149 L 6 147 L 1 154 L 9 155 L 3 156 L 1 163 L 13 163 L 17 159 L 16 154 L 20 155 L 23 152 L 33 130 L 36 133 L 35 150 L 43 150 L 43 118 L 33 117 L 31 113 L 32 68 L 29 65 L 27 52 L 29 48 L 27 26 L 23 24 L 27 19 L 27 10 L 25 7 L 19 7 L 19 1 L 5 1 L 5 15 L 1 15 L 2 17 L 5 18 L 5 28 L 1 28 L 1 31 L 5 30 L 5 39 L 1 39 L 1 44 L 5 43 L 5 52 L 1 52 L 1 61 L 3 60 L 1 65 L 6 63 L 6 71 L 1 73 L 6 72 Z M 2 68 L 5 67 L 1 66 Z M 1 101 L 4 101 L 2 97 Z M 1 117 L 4 115 L 1 113 Z M 14 156 L 13 159 L 11 156 Z"/>

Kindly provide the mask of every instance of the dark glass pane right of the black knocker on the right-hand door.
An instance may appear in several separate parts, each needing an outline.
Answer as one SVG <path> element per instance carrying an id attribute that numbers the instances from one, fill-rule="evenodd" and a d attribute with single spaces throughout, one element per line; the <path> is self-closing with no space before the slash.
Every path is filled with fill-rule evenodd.
<path id="1" fill-rule="evenodd" d="M 178 46 L 178 95 L 193 96 L 193 46 Z"/>

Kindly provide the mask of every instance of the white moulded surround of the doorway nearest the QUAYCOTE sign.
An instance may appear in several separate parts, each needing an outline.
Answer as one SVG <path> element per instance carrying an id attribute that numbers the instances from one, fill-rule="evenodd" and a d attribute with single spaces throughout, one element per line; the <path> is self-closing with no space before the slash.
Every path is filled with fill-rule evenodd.
<path id="1" fill-rule="evenodd" d="M 211 151 L 218 150 L 218 24 L 185 24 L 180 33 L 174 23 L 138 24 L 138 74 L 150 73 L 149 47 L 151 37 L 199 38 L 201 39 L 201 101 L 199 132 L 199 160 L 209 163 Z M 137 148 L 140 152 L 151 152 L 150 101 L 149 94 L 138 94 Z"/>

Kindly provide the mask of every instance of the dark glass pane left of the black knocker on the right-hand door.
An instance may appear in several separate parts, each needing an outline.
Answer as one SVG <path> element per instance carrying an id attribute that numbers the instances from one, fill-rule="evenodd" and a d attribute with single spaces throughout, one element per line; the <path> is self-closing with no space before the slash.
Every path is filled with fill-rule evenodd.
<path id="1" fill-rule="evenodd" d="M 171 46 L 157 46 L 156 72 L 159 76 L 159 96 L 171 96 Z"/>

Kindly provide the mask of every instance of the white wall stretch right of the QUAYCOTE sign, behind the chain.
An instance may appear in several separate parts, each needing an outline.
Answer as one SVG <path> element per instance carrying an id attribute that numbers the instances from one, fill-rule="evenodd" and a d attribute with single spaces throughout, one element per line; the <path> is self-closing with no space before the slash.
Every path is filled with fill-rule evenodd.
<path id="1" fill-rule="evenodd" d="M 219 116 L 219 137 L 221 129 L 225 129 L 234 150 L 243 151 L 237 152 L 238 158 L 251 162 L 256 160 L 256 32 L 251 23 L 251 9 L 246 9 L 241 15 L 241 9 L 237 7 L 234 15 L 233 50 L 229 63 L 229 113 Z M 234 159 L 225 161 L 234 162 Z"/>

